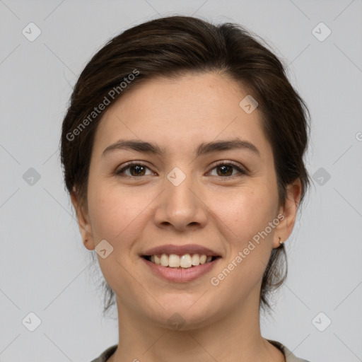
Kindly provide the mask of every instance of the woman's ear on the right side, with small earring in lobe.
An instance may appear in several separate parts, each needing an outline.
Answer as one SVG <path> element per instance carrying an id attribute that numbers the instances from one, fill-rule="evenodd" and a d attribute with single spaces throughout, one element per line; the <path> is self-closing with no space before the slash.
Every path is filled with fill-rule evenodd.
<path id="1" fill-rule="evenodd" d="M 285 242 L 291 232 L 293 231 L 294 223 L 296 222 L 296 215 L 298 211 L 298 205 L 300 203 L 300 196 L 302 193 L 302 184 L 300 179 L 297 178 L 286 188 L 286 202 L 280 206 L 279 224 L 275 228 L 273 247 L 279 247 L 281 242 Z M 279 239 L 280 238 L 280 239 Z"/>

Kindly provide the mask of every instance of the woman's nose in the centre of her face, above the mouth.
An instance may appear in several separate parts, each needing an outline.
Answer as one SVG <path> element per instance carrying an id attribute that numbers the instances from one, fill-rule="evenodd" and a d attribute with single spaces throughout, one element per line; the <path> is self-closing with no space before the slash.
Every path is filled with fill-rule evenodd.
<path id="1" fill-rule="evenodd" d="M 157 199 L 154 216 L 156 226 L 177 231 L 203 228 L 207 220 L 207 206 L 192 176 L 187 175 L 177 186 L 165 178 L 164 186 L 164 191 Z"/>

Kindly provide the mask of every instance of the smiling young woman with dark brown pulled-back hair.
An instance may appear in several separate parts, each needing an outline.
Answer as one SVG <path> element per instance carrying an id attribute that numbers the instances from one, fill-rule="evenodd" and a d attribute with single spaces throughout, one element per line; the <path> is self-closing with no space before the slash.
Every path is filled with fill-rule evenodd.
<path id="1" fill-rule="evenodd" d="M 93 362 L 305 361 L 262 337 L 259 311 L 309 184 L 307 115 L 238 25 L 160 18 L 95 54 L 62 129 L 83 243 L 117 302 L 119 344 Z"/>

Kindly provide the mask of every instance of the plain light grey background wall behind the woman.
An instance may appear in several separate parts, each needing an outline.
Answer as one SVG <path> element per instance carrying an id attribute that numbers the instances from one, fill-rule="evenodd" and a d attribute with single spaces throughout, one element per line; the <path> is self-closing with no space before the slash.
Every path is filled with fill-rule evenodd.
<path id="1" fill-rule="evenodd" d="M 64 191 L 62 117 L 71 86 L 110 37 L 176 13 L 263 37 L 310 107 L 315 186 L 286 243 L 288 279 L 262 334 L 311 362 L 362 361 L 361 0 L 0 0 L 0 361 L 86 362 L 117 343 Z M 22 34 L 30 22 L 42 32 L 33 42 Z M 312 31 L 320 22 L 332 31 L 323 41 Z M 33 332 L 30 312 L 41 320 Z"/>

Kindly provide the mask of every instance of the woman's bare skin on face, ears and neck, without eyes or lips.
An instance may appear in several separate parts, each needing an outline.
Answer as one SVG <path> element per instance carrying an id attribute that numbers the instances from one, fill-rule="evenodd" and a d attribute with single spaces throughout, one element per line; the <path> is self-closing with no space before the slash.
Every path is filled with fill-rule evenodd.
<path id="1" fill-rule="evenodd" d="M 84 245 L 94 250 L 107 240 L 113 252 L 98 255 L 105 280 L 115 291 L 119 345 L 109 361 L 285 361 L 262 338 L 259 293 L 271 250 L 293 230 L 300 202 L 300 180 L 288 185 L 279 205 L 271 146 L 260 113 L 240 106 L 246 91 L 227 76 L 187 74 L 153 78 L 124 93 L 108 108 L 95 134 L 88 179 L 88 202 L 77 210 Z M 245 149 L 217 151 L 194 158 L 202 142 L 250 141 L 260 156 Z M 119 139 L 140 139 L 165 148 L 165 155 L 117 150 L 102 156 Z M 146 164 L 141 176 L 121 177 L 130 160 Z M 228 176 L 216 161 L 232 160 L 248 175 L 231 168 Z M 178 186 L 166 177 L 180 168 Z M 243 262 L 218 286 L 210 283 L 247 247 L 252 237 L 283 214 Z M 187 283 L 153 275 L 139 256 L 151 247 L 195 243 L 221 255 L 209 273 Z M 168 324 L 178 313 L 181 329 Z"/>

